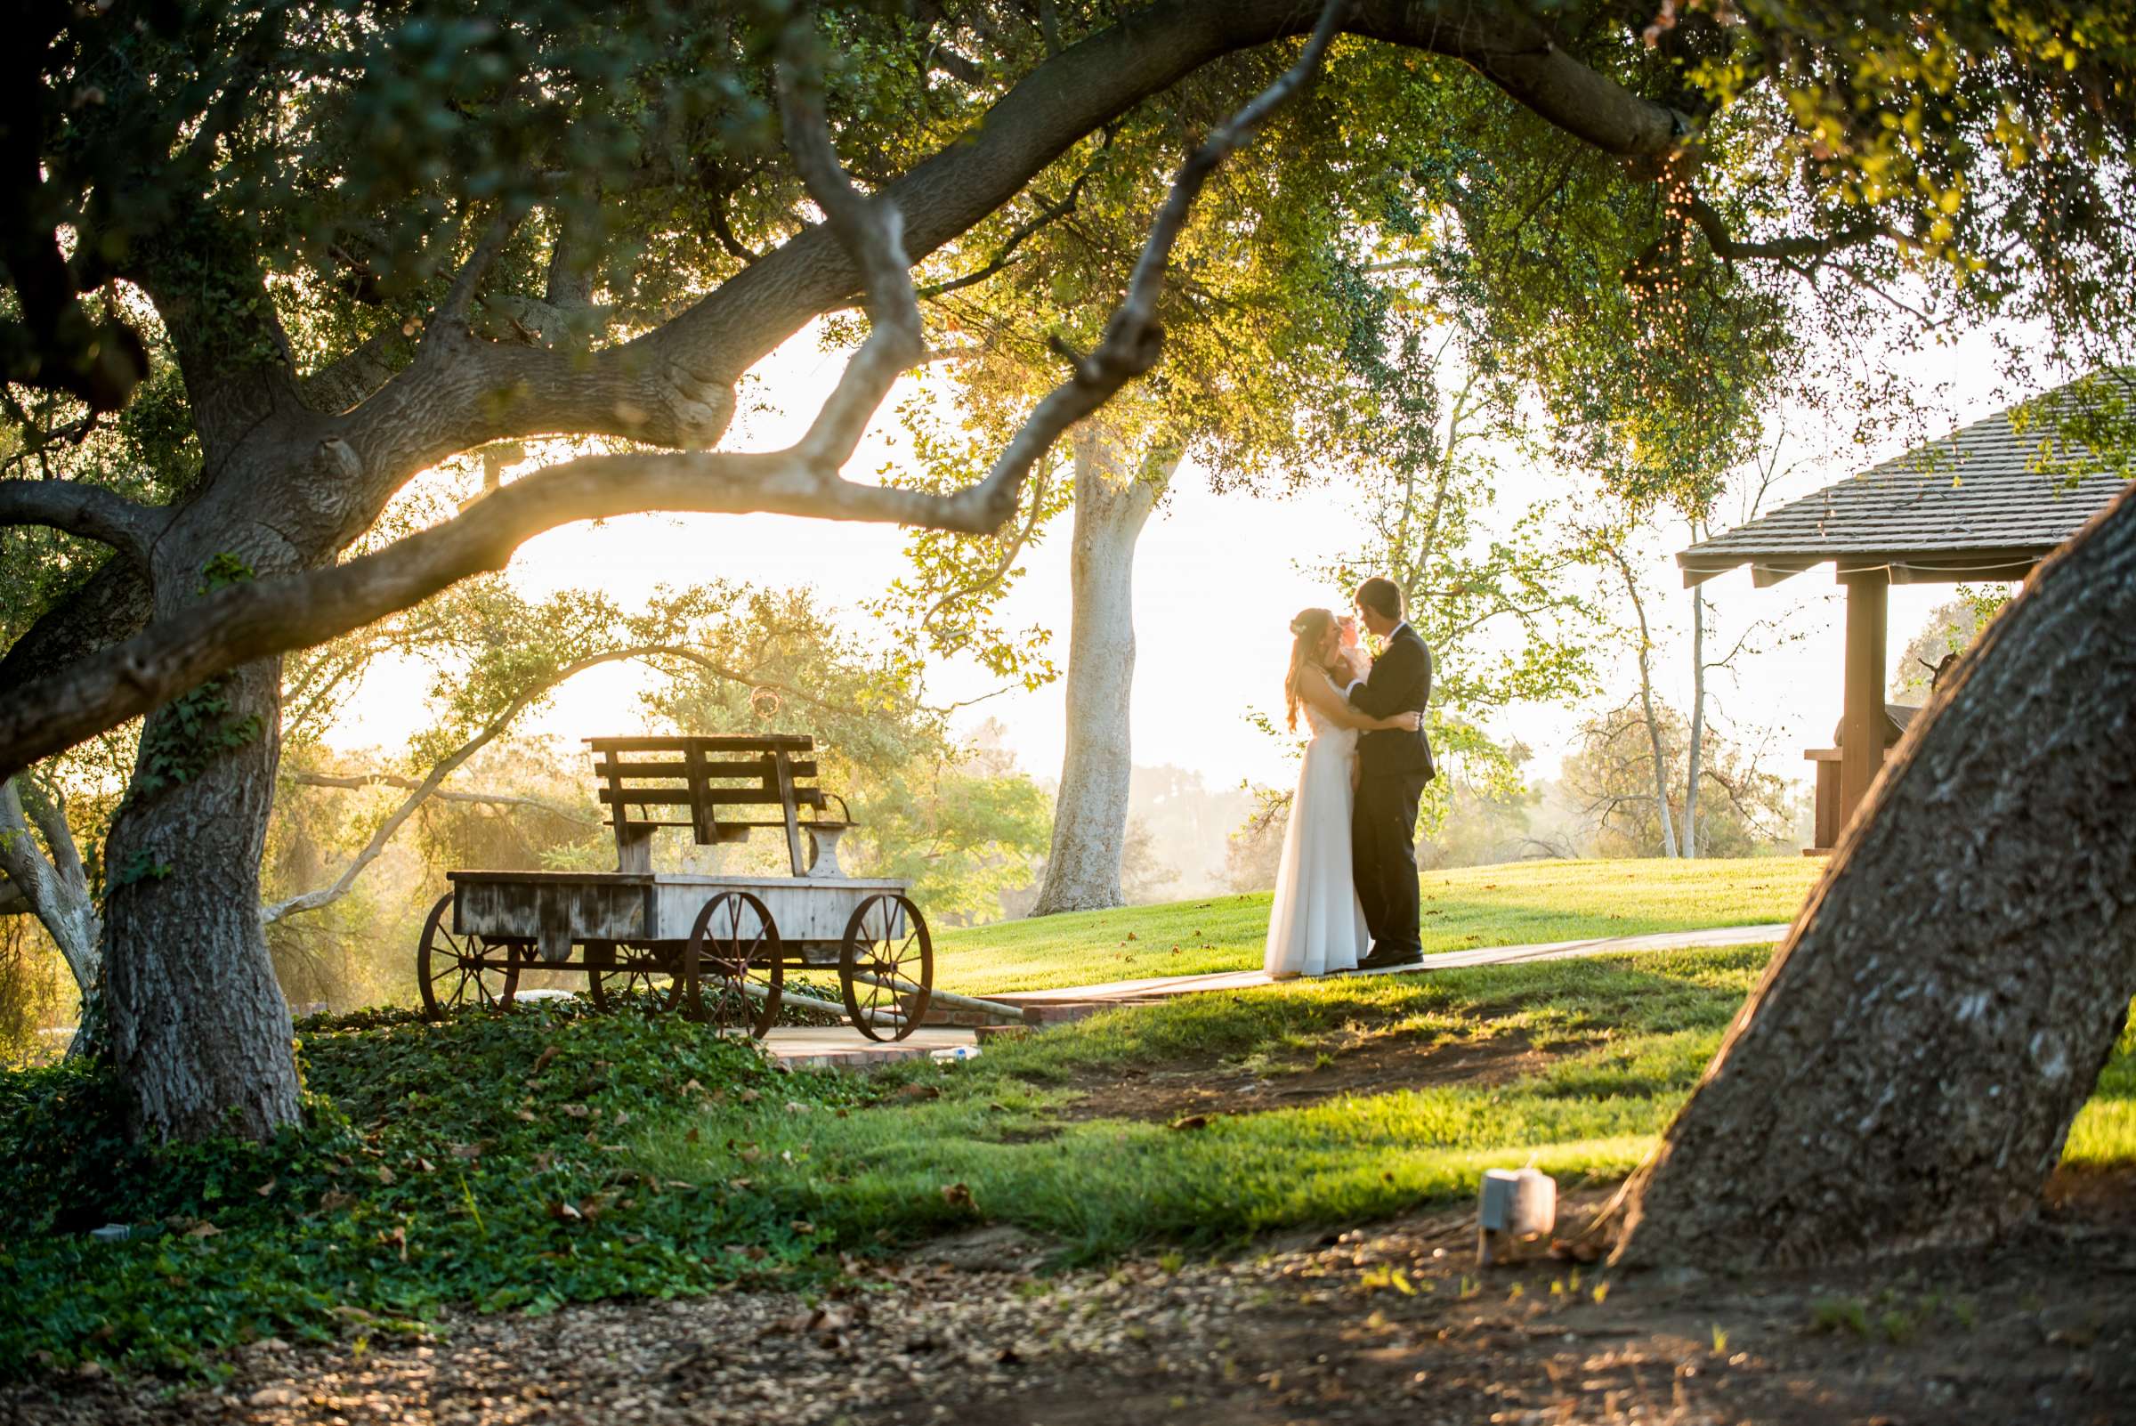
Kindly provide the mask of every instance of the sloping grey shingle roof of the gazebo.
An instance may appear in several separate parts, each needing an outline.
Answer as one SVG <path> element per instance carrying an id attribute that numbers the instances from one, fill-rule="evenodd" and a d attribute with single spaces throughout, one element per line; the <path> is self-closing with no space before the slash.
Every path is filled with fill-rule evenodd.
<path id="1" fill-rule="evenodd" d="M 1696 585 L 1741 564 L 1760 585 L 1826 559 L 1914 579 L 2021 579 L 2127 485 L 2042 406 L 2080 397 L 2072 382 L 2027 403 L 2027 429 L 1995 412 L 1873 470 L 1828 485 L 1677 555 Z"/>

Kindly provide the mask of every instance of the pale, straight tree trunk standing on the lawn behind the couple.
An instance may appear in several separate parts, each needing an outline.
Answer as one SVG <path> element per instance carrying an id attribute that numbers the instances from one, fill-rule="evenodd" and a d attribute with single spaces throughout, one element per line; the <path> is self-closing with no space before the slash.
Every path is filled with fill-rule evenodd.
<path id="1" fill-rule="evenodd" d="M 1053 805 L 1053 850 L 1032 916 L 1121 905 L 1128 845 L 1128 704 L 1134 694 L 1134 542 L 1179 457 L 1143 470 L 1096 423 L 1074 433 L 1068 745 Z"/>

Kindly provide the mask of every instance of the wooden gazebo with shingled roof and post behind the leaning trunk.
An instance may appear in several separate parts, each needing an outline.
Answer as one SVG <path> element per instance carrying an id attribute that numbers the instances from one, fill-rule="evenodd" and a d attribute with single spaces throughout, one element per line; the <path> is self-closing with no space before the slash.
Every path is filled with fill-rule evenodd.
<path id="1" fill-rule="evenodd" d="M 1890 585 L 2025 579 L 2121 493 L 2119 474 L 2042 418 L 2083 389 L 2027 403 L 2023 431 L 1995 412 L 1677 555 L 1685 587 L 1747 564 L 1762 589 L 1831 564 L 1848 589 L 1839 747 L 1807 754 L 1818 762 L 1811 852 L 1837 843 L 1912 717 L 1884 702 Z"/>

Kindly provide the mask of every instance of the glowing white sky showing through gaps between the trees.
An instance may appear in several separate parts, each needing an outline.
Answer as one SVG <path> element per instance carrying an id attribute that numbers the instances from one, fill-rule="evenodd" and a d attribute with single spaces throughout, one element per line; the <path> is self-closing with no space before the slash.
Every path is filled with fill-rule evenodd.
<path id="1" fill-rule="evenodd" d="M 754 393 L 778 410 L 748 416 L 733 444 L 771 448 L 799 435 L 839 361 L 839 354 L 818 350 L 810 333 L 775 352 L 760 367 Z M 1916 365 L 1922 391 L 1946 393 L 1939 410 L 1950 421 L 1935 435 L 2006 403 L 1995 391 L 1986 342 L 1946 348 Z M 893 406 L 895 399 L 884 406 L 876 433 L 850 472 L 869 472 L 897 457 Z M 1813 463 L 1775 489 L 1766 508 L 1897 455 L 1905 444 L 1910 442 L 1892 440 L 1888 448 L 1839 453 L 1835 463 Z M 1803 455 L 1809 455 L 1807 444 Z M 1564 476 L 1517 472 L 1497 491 L 1495 521 L 1506 523 L 1534 500 L 1564 489 Z M 1358 542 L 1350 514 L 1352 493 L 1348 478 L 1333 474 L 1324 487 L 1288 500 L 1218 497 L 1196 472 L 1181 470 L 1136 553 L 1132 736 L 1138 764 L 1192 769 L 1213 788 L 1237 786 L 1241 779 L 1284 783 L 1292 777 L 1284 749 L 1252 728 L 1247 713 L 1256 707 L 1273 711 L 1277 704 L 1290 617 L 1309 604 L 1346 602 L 1344 591 L 1320 587 L 1299 566 L 1312 568 Z M 1677 707 L 1687 702 L 1690 692 L 1690 604 L 1670 555 L 1685 542 L 1685 532 L 1672 527 L 1655 532 L 1640 551 L 1653 591 L 1649 617 L 1660 613 L 1664 619 L 1658 630 L 1662 694 Z M 901 549 L 904 532 L 882 525 L 788 517 L 632 517 L 600 527 L 549 532 L 519 551 L 508 576 L 536 598 L 577 585 L 630 602 L 662 583 L 726 576 L 763 585 L 814 585 L 831 604 L 852 606 L 897 576 Z M 1032 557 L 1032 574 L 1008 611 L 1017 628 L 1045 623 L 1055 630 L 1055 660 L 1062 664 L 1068 632 L 1066 553 L 1064 517 L 1053 538 Z M 1803 634 L 1743 660 L 1732 683 L 1724 679 L 1713 687 L 1722 724 L 1743 732 L 1771 732 L 1771 766 L 1786 777 L 1803 777 L 1807 764 L 1801 762 L 1801 749 L 1828 745 L 1839 722 L 1843 602 L 1831 570 L 1799 574 L 1773 589 L 1754 589 L 1747 570 L 1737 570 L 1709 583 L 1707 591 L 1722 636 L 1732 638 L 1749 621 L 1779 615 L 1790 615 L 1790 628 Z M 1892 589 L 1892 660 L 1927 613 L 1946 598 L 1948 585 Z M 1606 700 L 1621 698 L 1634 677 L 1630 649 L 1623 649 Z M 598 668 L 568 685 L 525 726 L 568 741 L 639 730 L 641 683 L 643 672 L 634 666 Z M 978 668 L 951 666 L 931 679 L 933 700 L 974 698 L 991 687 L 995 683 Z M 342 747 L 402 745 L 423 726 L 421 690 L 414 670 L 378 668 L 342 726 L 329 734 L 331 741 Z M 1036 694 L 1019 690 L 993 698 L 974 711 L 974 722 L 980 715 L 1008 726 L 1008 743 L 1025 771 L 1040 777 L 1059 773 L 1064 709 L 1057 683 Z M 1497 732 L 1536 749 L 1536 775 L 1555 775 L 1579 717 L 1559 707 L 1529 707 L 1514 711 Z"/>

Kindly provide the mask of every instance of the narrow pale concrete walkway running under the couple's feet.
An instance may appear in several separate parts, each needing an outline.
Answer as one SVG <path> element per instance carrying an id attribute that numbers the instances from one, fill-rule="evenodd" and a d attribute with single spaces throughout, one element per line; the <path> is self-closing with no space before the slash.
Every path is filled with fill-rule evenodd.
<path id="1" fill-rule="evenodd" d="M 1709 931 L 1653 931 L 1647 935 L 1606 935 L 1585 941 L 1540 941 L 1534 946 L 1478 946 L 1476 950 L 1448 950 L 1425 956 L 1423 965 L 1403 965 L 1388 971 L 1356 971 L 1358 976 L 1418 976 L 1425 971 L 1452 971 L 1472 965 L 1525 965 L 1529 961 L 1572 961 L 1579 956 L 1611 956 L 1647 950 L 1696 950 L 1709 946 L 1756 946 L 1777 941 L 1788 935 L 1786 922 L 1764 926 L 1715 926 Z M 1010 1005 L 1032 1005 L 1066 1010 L 1068 1005 L 1134 1005 L 1175 995 L 1205 995 L 1209 991 L 1245 991 L 1252 986 L 1277 984 L 1267 971 L 1215 971 L 1209 976 L 1153 976 L 1149 980 L 1111 980 L 1094 986 L 1066 986 L 1059 991 L 1019 991 L 987 995 L 991 1001 Z M 1049 1016 L 1051 1018 L 1051 1016 Z M 1064 1016 L 1066 1018 L 1066 1016 Z M 910 1040 L 874 1042 L 850 1025 L 835 1027 L 780 1027 L 765 1037 L 780 1061 L 795 1067 L 829 1070 L 895 1063 L 918 1059 L 936 1050 L 976 1044 L 976 1033 L 959 1027 L 923 1027 Z"/>

